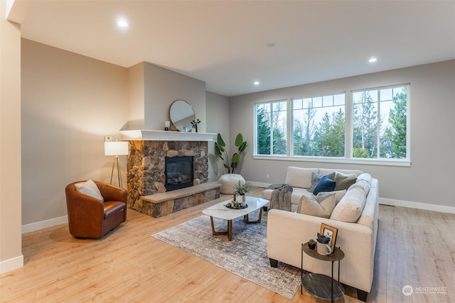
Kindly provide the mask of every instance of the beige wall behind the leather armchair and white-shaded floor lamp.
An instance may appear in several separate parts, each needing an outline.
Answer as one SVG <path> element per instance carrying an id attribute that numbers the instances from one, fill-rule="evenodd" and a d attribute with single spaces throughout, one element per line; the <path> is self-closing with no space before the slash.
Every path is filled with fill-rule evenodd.
<path id="1" fill-rule="evenodd" d="M 127 121 L 127 69 L 26 39 L 21 50 L 26 225 L 66 216 L 68 183 L 109 182 L 113 157 L 104 155 L 104 136 L 119 139 Z M 120 160 L 126 184 L 126 157 Z"/>

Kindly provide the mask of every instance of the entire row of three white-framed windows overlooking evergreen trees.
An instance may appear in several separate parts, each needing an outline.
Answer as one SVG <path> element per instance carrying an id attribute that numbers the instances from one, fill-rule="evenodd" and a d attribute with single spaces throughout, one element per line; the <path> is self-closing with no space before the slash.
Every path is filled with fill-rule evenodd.
<path id="1" fill-rule="evenodd" d="M 410 165 L 409 89 L 400 85 L 255 104 L 255 155 Z"/>

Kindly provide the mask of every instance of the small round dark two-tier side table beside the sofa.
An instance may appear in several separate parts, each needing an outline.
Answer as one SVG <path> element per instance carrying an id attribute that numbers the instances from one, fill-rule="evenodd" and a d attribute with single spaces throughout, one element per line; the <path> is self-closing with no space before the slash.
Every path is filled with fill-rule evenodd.
<path id="1" fill-rule="evenodd" d="M 332 263 L 332 276 L 321 275 L 318 273 L 308 273 L 304 275 L 304 253 L 311 258 L 321 261 L 331 261 Z M 315 249 L 310 249 L 308 243 L 301 245 L 301 294 L 303 294 L 303 287 L 309 294 L 320 299 L 334 300 L 341 299 L 344 295 L 343 285 L 340 283 L 340 260 L 344 258 L 344 252 L 341 248 L 335 247 L 333 253 L 329 255 L 321 255 Z M 338 281 L 333 280 L 333 263 L 338 261 Z"/>

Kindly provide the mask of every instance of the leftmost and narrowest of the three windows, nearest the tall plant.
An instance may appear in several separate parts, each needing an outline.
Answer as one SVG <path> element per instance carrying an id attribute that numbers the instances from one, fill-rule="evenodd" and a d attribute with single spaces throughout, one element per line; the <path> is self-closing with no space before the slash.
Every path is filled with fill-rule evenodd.
<path id="1" fill-rule="evenodd" d="M 287 155 L 287 101 L 255 105 L 257 155 Z"/>

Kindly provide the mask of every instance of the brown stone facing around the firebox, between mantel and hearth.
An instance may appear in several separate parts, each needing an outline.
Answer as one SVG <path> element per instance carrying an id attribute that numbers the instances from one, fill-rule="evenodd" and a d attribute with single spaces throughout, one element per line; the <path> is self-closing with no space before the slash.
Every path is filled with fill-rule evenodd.
<path id="1" fill-rule="evenodd" d="M 129 141 L 128 207 L 141 213 L 143 196 L 166 192 L 165 157 L 193 156 L 193 185 L 208 182 L 208 142 Z"/>

